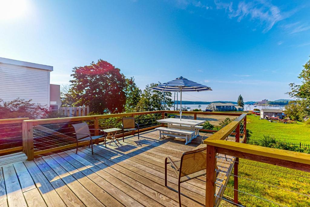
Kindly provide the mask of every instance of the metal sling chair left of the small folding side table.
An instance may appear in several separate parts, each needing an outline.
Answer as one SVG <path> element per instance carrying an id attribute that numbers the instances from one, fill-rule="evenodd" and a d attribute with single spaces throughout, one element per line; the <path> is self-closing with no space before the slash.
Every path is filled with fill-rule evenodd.
<path id="1" fill-rule="evenodd" d="M 94 154 L 93 152 L 93 140 L 95 140 L 97 143 L 99 143 L 99 138 L 105 137 L 105 132 L 102 129 L 90 129 L 87 125 L 86 122 L 79 123 L 79 124 L 72 124 L 74 128 L 73 134 L 75 134 L 75 137 L 77 139 L 77 151 L 75 152 L 76 154 L 78 153 L 78 142 L 83 142 L 83 141 L 89 141 L 89 146 L 91 146 L 91 154 Z M 104 135 L 99 135 L 99 136 L 91 136 L 91 132 L 89 130 L 98 130 L 104 132 Z M 106 139 L 104 138 L 104 143 L 105 147 L 107 147 L 106 144 Z"/>

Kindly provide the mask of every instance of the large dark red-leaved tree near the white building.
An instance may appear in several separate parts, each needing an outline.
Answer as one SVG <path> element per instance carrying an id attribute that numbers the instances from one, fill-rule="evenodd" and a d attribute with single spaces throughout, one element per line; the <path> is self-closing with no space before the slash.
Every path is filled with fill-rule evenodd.
<path id="1" fill-rule="evenodd" d="M 74 67 L 71 75 L 73 106 L 89 106 L 91 111 L 111 113 L 124 111 L 126 79 L 120 69 L 107 61 L 98 60 L 91 65 Z"/>

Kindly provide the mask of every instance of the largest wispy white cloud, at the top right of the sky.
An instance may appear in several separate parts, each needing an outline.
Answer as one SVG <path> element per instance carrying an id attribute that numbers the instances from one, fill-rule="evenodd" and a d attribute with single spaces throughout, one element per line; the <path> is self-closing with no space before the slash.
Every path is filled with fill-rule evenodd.
<path id="1" fill-rule="evenodd" d="M 215 0 L 217 9 L 225 9 L 229 18 L 237 18 L 241 21 L 245 17 L 250 20 L 258 20 L 260 24 L 265 24 L 263 32 L 269 31 L 278 21 L 285 19 L 288 15 L 282 14 L 277 6 L 265 1 L 239 2 L 237 7 L 233 7 L 232 2 L 225 3 Z"/>

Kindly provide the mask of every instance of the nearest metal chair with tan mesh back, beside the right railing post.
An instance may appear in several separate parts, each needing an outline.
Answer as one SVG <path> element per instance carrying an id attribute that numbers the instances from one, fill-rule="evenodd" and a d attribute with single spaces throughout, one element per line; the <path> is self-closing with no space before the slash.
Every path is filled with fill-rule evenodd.
<path id="1" fill-rule="evenodd" d="M 206 174 L 206 147 L 184 152 L 181 160 L 173 162 L 170 157 L 165 159 L 165 186 L 167 186 L 167 164 L 170 164 L 179 177 L 178 193 L 179 205 L 181 207 L 180 184 L 182 182 L 198 178 Z M 167 162 L 169 160 L 169 162 Z"/>

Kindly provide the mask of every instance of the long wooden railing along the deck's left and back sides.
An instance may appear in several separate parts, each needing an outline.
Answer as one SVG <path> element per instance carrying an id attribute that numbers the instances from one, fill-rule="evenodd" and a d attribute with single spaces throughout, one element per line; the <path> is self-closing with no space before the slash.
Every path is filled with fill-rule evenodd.
<path id="1" fill-rule="evenodd" d="M 13 151 L 22 150 L 27 156 L 28 160 L 33 160 L 34 156 L 42 155 L 53 151 L 59 151 L 71 147 L 75 147 L 76 144 L 68 144 L 62 146 L 55 146 L 49 149 L 37 150 L 34 148 L 34 129 L 44 129 L 46 125 L 53 125 L 53 124 L 60 124 L 60 123 L 70 123 L 70 122 L 79 122 L 79 121 L 91 121 L 93 123 L 93 128 L 99 128 L 99 120 L 100 119 L 108 119 L 108 118 L 115 118 L 115 117 L 126 117 L 126 116 L 138 116 L 138 115 L 147 115 L 147 114 L 161 114 L 161 118 L 165 117 L 165 113 L 168 114 L 175 114 L 178 115 L 179 111 L 146 111 L 146 112 L 135 112 L 135 113 L 122 113 L 122 114 L 108 114 L 108 115 L 93 115 L 93 116 L 80 116 L 80 117 L 66 117 L 66 118 L 55 118 L 55 119 L 33 119 L 30 120 L 29 118 L 18 118 L 18 119 L 0 119 L 0 124 L 20 124 L 22 133 L 20 135 L 20 143 L 22 142 L 22 146 L 18 147 L 7 147 L 7 149 L 0 150 L 1 153 L 10 153 Z M 204 112 L 204 111 L 183 111 L 183 115 L 191 115 L 193 119 L 197 119 L 197 115 L 225 115 L 225 116 L 240 116 L 241 113 L 225 113 L 225 112 Z M 140 131 L 150 130 L 156 128 L 158 126 L 163 126 L 163 124 L 158 124 L 150 127 L 141 128 Z M 201 129 L 201 131 L 205 132 L 216 132 L 212 129 Z M 60 136 L 60 137 L 68 137 L 65 135 L 55 134 L 53 136 Z M 129 135 L 129 133 L 125 133 L 125 135 Z M 98 135 L 98 131 L 95 131 L 94 135 Z M 118 135 L 120 136 L 120 135 Z M 52 140 L 51 140 L 52 141 Z M 79 146 L 86 145 L 87 142 L 79 143 Z"/>

